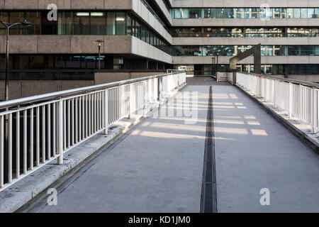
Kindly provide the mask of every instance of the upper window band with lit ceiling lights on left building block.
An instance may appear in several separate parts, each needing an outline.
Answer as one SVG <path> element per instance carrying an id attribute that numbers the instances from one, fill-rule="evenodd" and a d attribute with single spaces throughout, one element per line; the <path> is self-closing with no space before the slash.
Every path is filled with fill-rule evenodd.
<path id="1" fill-rule="evenodd" d="M 169 52 L 166 40 L 126 11 L 59 11 L 57 22 L 47 21 L 46 16 L 41 12 L 0 12 L 1 21 L 33 23 L 30 27 L 14 26 L 11 35 L 133 35 Z M 0 26 L 0 35 L 5 33 Z"/>

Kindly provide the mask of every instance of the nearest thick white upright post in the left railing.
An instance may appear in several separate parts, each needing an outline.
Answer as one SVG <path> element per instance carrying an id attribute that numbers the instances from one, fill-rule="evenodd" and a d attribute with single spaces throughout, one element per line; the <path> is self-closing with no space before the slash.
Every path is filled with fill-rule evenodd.
<path id="1" fill-rule="evenodd" d="M 57 165 L 63 164 L 63 101 L 57 102 Z"/>

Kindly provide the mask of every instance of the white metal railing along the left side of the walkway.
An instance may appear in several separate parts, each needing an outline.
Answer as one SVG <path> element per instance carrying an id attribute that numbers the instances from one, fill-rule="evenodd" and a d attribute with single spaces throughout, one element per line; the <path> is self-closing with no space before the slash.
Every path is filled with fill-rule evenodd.
<path id="1" fill-rule="evenodd" d="M 1 101 L 0 190 L 185 83 L 172 72 Z"/>

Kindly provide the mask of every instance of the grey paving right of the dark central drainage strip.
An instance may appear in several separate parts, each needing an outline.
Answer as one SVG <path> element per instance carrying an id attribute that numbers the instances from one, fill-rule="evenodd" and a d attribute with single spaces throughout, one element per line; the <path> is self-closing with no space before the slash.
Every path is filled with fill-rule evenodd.
<path id="1" fill-rule="evenodd" d="M 319 155 L 236 87 L 213 86 L 213 109 L 219 212 L 319 212 Z"/>

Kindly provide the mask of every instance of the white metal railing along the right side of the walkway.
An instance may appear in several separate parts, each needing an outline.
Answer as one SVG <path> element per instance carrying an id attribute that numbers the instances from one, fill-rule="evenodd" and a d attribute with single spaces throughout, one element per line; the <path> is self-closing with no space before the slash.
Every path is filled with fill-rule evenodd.
<path id="1" fill-rule="evenodd" d="M 318 84 L 244 72 L 236 74 L 238 85 L 271 102 L 274 108 L 286 111 L 290 118 L 308 123 L 312 133 L 318 131 Z"/>

